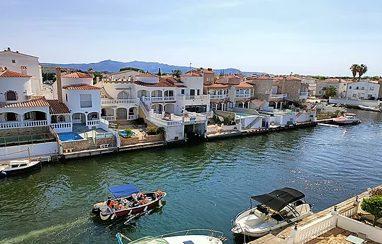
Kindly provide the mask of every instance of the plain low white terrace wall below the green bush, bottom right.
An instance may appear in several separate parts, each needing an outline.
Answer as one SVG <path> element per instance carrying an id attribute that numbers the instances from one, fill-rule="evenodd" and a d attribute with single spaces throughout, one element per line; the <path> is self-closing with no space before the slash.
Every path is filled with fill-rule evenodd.
<path id="1" fill-rule="evenodd" d="M 368 239 L 382 243 L 382 229 L 377 229 L 371 225 L 366 225 L 341 215 L 338 216 L 337 226 L 349 232 L 367 234 Z"/>

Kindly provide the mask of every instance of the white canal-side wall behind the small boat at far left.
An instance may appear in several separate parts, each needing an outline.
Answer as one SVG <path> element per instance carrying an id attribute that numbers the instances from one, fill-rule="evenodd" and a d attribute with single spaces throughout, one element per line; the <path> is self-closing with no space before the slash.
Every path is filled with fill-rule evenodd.
<path id="1" fill-rule="evenodd" d="M 30 149 L 31 157 L 34 156 L 40 156 L 40 155 L 49 155 L 50 153 L 54 153 L 57 151 L 58 143 L 57 141 L 54 142 L 47 142 L 47 143 L 37 143 L 37 144 L 30 144 L 30 145 L 22 145 L 22 146 L 7 146 L 5 148 L 0 148 L 0 160 L 6 160 L 6 159 L 17 159 L 17 158 L 27 158 L 28 157 L 28 151 L 17 153 L 22 150 L 28 150 Z M 6 155 L 8 153 L 15 153 L 11 155 Z"/>

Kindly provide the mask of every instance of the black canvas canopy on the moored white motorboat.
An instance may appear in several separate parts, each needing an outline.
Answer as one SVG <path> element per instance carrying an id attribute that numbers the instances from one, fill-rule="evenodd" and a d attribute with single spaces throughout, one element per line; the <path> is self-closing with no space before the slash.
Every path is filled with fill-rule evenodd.
<path id="1" fill-rule="evenodd" d="M 274 190 L 271 193 L 255 195 L 251 198 L 275 211 L 280 211 L 289 203 L 305 198 L 305 195 L 296 189 L 284 187 L 282 189 Z"/>

